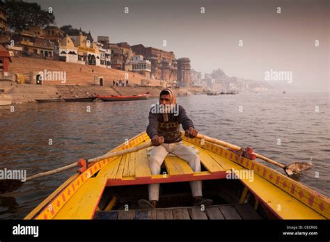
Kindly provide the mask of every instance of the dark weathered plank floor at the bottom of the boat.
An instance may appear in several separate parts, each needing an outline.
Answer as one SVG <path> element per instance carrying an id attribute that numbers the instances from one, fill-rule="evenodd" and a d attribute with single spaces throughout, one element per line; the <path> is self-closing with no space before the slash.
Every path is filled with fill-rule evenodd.
<path id="1" fill-rule="evenodd" d="M 262 219 L 249 204 L 221 204 L 210 207 L 171 207 L 160 209 L 135 209 L 98 211 L 95 219 L 143 220 L 143 219 Z"/>

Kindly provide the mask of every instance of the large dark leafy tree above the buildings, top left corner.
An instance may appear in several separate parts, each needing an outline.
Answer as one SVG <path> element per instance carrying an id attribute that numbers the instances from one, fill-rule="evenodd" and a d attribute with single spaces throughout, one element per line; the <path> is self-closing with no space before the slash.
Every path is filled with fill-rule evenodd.
<path id="1" fill-rule="evenodd" d="M 6 11 L 8 26 L 15 31 L 22 31 L 34 26 L 45 27 L 55 21 L 55 16 L 46 10 L 42 10 L 38 3 L 8 1 Z"/>

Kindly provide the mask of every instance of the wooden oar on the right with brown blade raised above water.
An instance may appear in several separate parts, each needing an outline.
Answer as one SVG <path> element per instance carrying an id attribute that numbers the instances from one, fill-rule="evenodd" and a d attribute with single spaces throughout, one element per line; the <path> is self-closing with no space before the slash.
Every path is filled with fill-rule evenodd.
<path id="1" fill-rule="evenodd" d="M 239 146 L 232 145 L 232 144 L 227 143 L 225 141 L 217 140 L 216 138 L 211 138 L 211 137 L 205 136 L 203 134 L 197 134 L 196 138 L 203 139 L 203 140 L 208 141 L 210 143 L 214 143 L 214 144 L 221 145 L 221 146 L 224 146 L 224 147 L 228 147 L 232 150 L 237 150 L 237 151 L 242 150 L 242 148 L 239 147 Z M 283 168 L 285 173 L 288 174 L 289 176 L 294 174 L 294 173 L 297 173 L 297 172 L 302 172 L 304 170 L 308 170 L 312 166 L 312 163 L 306 163 L 306 162 L 294 162 L 294 163 L 290 163 L 289 165 L 285 166 L 281 163 L 278 163 L 277 161 L 273 161 L 272 159 L 269 159 L 265 156 L 262 156 L 261 154 L 257 154 L 257 153 L 254 153 L 254 152 L 252 154 L 256 155 L 256 157 L 259 158 L 259 159 L 262 159 L 264 161 L 267 161 L 268 163 L 272 163 L 275 166 L 279 166 L 279 167 Z"/>

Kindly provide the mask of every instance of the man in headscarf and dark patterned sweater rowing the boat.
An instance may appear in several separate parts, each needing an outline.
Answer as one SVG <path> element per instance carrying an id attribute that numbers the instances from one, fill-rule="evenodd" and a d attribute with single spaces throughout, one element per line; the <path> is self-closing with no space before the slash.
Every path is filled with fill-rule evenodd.
<path id="1" fill-rule="evenodd" d="M 150 170 L 152 175 L 159 175 L 162 163 L 168 153 L 175 154 L 187 161 L 194 172 L 201 172 L 201 161 L 198 154 L 183 144 L 180 132 L 180 124 L 189 136 L 194 138 L 198 131 L 184 108 L 176 104 L 174 92 L 165 88 L 160 92 L 159 104 L 153 106 L 149 112 L 149 125 L 147 134 L 151 139 L 152 151 L 150 153 Z M 213 203 L 210 199 L 202 197 L 202 181 L 190 181 L 191 193 L 194 197 L 194 205 L 209 206 Z M 138 204 L 141 208 L 155 208 L 159 200 L 159 184 L 149 184 L 149 200 L 141 199 Z"/>

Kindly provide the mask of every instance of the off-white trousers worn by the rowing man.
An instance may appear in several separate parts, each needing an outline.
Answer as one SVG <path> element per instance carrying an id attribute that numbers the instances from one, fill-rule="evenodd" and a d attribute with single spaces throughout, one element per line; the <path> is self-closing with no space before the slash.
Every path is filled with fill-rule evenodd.
<path id="1" fill-rule="evenodd" d="M 194 172 L 201 171 L 201 160 L 198 154 L 194 153 L 183 141 L 171 144 L 162 144 L 159 146 L 152 147 L 150 153 L 149 166 L 152 175 L 160 174 L 160 167 L 168 153 L 175 154 L 182 160 L 187 161 L 191 170 Z M 190 188 L 193 197 L 202 196 L 202 181 L 190 181 Z M 159 184 L 149 184 L 149 200 L 159 199 Z"/>

